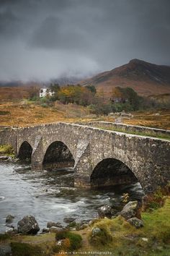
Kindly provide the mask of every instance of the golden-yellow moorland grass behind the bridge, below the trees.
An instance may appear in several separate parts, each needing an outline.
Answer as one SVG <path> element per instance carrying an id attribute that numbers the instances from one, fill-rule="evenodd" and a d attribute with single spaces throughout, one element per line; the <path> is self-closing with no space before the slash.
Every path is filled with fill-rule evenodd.
<path id="1" fill-rule="evenodd" d="M 159 116 L 156 115 L 159 113 Z M 170 110 L 137 111 L 133 118 L 123 118 L 122 123 L 170 129 Z M 27 127 L 30 125 L 47 124 L 57 121 L 115 121 L 112 116 L 96 116 L 90 114 L 88 107 L 73 104 L 43 107 L 30 101 L 7 102 L 0 104 L 0 125 Z"/>

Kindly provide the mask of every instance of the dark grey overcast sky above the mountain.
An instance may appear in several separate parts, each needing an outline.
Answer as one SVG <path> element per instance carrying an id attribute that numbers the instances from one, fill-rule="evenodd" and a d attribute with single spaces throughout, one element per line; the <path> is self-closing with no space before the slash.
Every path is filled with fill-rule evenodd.
<path id="1" fill-rule="evenodd" d="M 169 0 L 0 0 L 0 80 L 170 65 Z"/>

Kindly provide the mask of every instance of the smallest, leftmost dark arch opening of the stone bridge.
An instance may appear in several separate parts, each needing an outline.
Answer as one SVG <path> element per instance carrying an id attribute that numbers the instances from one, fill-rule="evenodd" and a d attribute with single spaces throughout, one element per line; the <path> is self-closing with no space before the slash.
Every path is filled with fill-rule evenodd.
<path id="1" fill-rule="evenodd" d="M 32 158 L 32 146 L 30 145 L 27 140 L 22 142 L 22 144 L 19 147 L 19 153 L 18 153 L 18 158 L 20 160 L 25 160 L 31 162 Z"/>

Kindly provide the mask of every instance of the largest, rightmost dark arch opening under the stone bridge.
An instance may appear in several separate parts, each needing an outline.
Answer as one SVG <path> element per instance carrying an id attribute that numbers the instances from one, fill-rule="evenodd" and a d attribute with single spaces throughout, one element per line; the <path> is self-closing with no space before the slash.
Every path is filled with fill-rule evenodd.
<path id="1" fill-rule="evenodd" d="M 91 188 L 98 189 L 133 182 L 138 182 L 133 171 L 117 158 L 99 161 L 90 176 Z"/>

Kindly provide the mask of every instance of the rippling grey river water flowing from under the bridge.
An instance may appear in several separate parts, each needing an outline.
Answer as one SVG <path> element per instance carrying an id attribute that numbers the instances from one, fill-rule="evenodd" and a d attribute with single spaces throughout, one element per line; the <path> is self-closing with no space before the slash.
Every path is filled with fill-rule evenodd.
<path id="1" fill-rule="evenodd" d="M 0 163 L 0 232 L 6 231 L 8 214 L 17 221 L 30 214 L 35 216 L 40 229 L 48 221 L 61 222 L 74 217 L 77 221 L 97 218 L 97 208 L 115 205 L 119 208 L 122 193 L 128 192 L 130 199 L 140 200 L 143 190 L 140 184 L 94 191 L 73 187 L 73 170 L 32 171 L 21 163 Z M 65 224 L 66 225 L 66 224 Z"/>

